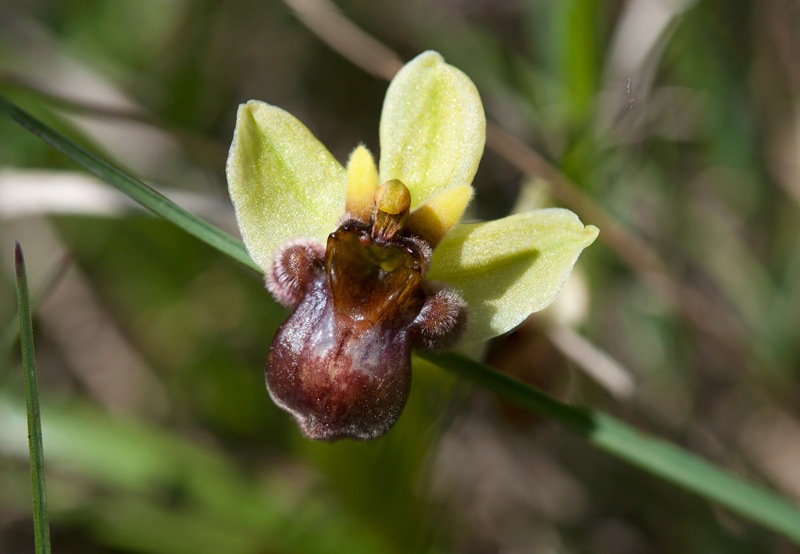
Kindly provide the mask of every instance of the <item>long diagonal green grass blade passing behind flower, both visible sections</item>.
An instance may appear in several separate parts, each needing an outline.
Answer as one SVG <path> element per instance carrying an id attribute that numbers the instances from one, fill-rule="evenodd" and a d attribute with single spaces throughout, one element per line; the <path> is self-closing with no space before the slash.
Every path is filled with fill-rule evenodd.
<path id="1" fill-rule="evenodd" d="M 128 177 L 74 145 L 66 137 L 52 131 L 2 98 L 0 110 L 143 206 L 248 267 L 257 269 L 241 243 L 229 235 L 182 210 L 144 183 Z M 611 416 L 568 406 L 464 356 L 454 353 L 420 355 L 440 367 L 471 379 L 510 402 L 550 417 L 585 437 L 590 444 L 617 458 L 717 502 L 800 544 L 800 508 L 776 494 L 741 480 L 678 446 L 645 436 Z"/>

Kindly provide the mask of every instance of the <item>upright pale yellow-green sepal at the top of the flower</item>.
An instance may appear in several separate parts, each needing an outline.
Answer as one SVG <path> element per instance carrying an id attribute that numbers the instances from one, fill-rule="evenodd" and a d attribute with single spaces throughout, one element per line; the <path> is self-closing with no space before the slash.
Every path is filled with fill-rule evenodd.
<path id="1" fill-rule="evenodd" d="M 472 183 L 486 117 L 469 77 L 436 52 L 420 54 L 389 85 L 381 114 L 381 182 L 400 179 L 412 209 L 440 190 Z"/>

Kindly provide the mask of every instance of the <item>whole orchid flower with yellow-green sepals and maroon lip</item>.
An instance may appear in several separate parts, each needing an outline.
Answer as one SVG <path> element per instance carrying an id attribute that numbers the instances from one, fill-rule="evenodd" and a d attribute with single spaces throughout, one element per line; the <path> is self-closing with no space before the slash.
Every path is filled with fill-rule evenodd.
<path id="1" fill-rule="evenodd" d="M 485 137 L 475 85 L 435 52 L 392 80 L 377 167 L 363 146 L 342 166 L 280 108 L 240 106 L 231 199 L 268 290 L 292 310 L 267 388 L 306 436 L 385 433 L 408 398 L 412 348 L 513 329 L 597 237 L 565 209 L 459 224 Z"/>

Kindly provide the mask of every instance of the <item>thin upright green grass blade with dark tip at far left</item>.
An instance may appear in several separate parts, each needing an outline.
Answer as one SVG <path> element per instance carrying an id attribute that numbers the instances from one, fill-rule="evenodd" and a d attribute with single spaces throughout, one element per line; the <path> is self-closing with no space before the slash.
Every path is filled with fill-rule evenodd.
<path id="1" fill-rule="evenodd" d="M 25 274 L 25 258 L 19 243 L 16 243 L 14 249 L 14 267 L 17 274 L 22 368 L 25 372 L 25 405 L 28 412 L 28 448 L 33 486 L 33 530 L 36 538 L 36 553 L 49 554 L 50 525 L 47 521 L 47 495 L 44 487 L 44 450 L 42 447 L 42 422 L 39 417 L 39 390 L 36 384 L 36 357 L 33 351 L 33 324 L 28 294 L 28 277 Z"/>

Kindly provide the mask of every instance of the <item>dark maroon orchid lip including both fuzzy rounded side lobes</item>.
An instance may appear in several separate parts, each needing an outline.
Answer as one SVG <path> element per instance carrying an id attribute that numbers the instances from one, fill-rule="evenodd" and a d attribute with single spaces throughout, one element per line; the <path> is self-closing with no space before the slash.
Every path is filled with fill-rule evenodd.
<path id="1" fill-rule="evenodd" d="M 305 435 L 367 440 L 394 425 L 411 388 L 411 348 L 444 347 L 463 331 L 454 292 L 424 281 L 430 248 L 350 220 L 324 253 L 296 241 L 276 256 L 268 287 L 294 307 L 267 364 L 276 404 Z"/>

